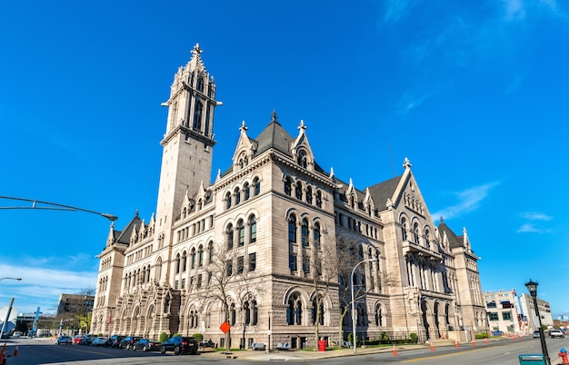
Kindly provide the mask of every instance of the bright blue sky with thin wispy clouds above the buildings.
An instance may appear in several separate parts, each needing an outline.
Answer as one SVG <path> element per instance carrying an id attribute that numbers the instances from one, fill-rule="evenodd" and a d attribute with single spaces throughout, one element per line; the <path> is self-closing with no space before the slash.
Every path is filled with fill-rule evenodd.
<path id="1" fill-rule="evenodd" d="M 504 1 L 0 3 L 0 195 L 155 212 L 166 108 L 196 43 L 215 76 L 213 172 L 271 112 L 364 190 L 408 157 L 429 211 L 468 230 L 484 291 L 569 314 L 569 5 Z M 392 162 L 393 161 L 393 162 Z M 553 190 L 552 190 L 553 189 Z M 1 201 L 2 206 L 21 205 Z M 0 307 L 95 287 L 109 223 L 0 210 Z"/>

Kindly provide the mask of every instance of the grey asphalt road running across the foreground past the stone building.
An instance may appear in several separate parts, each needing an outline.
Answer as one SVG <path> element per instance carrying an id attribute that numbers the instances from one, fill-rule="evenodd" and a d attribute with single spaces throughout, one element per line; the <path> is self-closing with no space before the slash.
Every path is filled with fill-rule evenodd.
<path id="1" fill-rule="evenodd" d="M 557 353 L 561 348 L 569 349 L 569 337 L 566 339 L 547 339 L 547 347 L 552 364 L 559 363 Z M 18 355 L 14 356 L 15 347 Z M 341 351 L 326 351 L 325 355 L 340 354 Z M 463 344 L 459 349 L 454 346 L 437 347 L 431 351 L 428 347 L 419 350 L 400 350 L 398 356 L 391 351 L 383 353 L 370 353 L 352 357 L 348 351 L 347 357 L 320 359 L 318 354 L 307 351 L 294 351 L 277 353 L 280 359 L 265 355 L 262 351 L 235 351 L 237 360 L 227 359 L 220 353 L 203 355 L 175 356 L 168 353 L 162 355 L 158 352 L 143 352 L 132 350 L 118 350 L 95 348 L 79 345 L 54 345 L 50 340 L 8 340 L 7 353 L 11 355 L 6 359 L 6 365 L 32 365 L 32 364 L 82 364 L 82 365 L 116 365 L 116 364 L 175 364 L 191 362 L 197 365 L 207 364 L 269 364 L 275 360 L 286 359 L 287 354 L 294 355 L 294 362 L 308 362 L 318 365 L 345 365 L 346 362 L 356 364 L 365 363 L 392 363 L 392 364 L 492 364 L 492 365 L 518 365 L 518 355 L 524 353 L 541 353 L 538 339 L 526 338 L 524 340 L 498 340 L 490 341 L 488 345 L 480 342 L 473 347 Z M 320 353 L 323 354 L 323 353 Z M 344 351 L 345 355 L 346 352 Z M 279 356 L 280 355 L 280 356 Z M 308 356 L 310 355 L 310 356 Z M 316 355 L 314 357 L 314 355 Z"/>

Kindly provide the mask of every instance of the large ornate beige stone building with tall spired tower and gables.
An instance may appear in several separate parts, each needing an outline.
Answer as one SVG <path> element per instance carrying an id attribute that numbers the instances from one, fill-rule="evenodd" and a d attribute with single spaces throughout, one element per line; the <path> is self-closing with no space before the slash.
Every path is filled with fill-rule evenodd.
<path id="1" fill-rule="evenodd" d="M 314 347 L 352 331 L 352 281 L 360 338 L 487 328 L 479 258 L 465 230 L 434 225 L 408 160 L 358 189 L 316 162 L 304 122 L 292 136 L 273 113 L 256 138 L 242 123 L 233 164 L 211 182 L 220 103 L 201 53 L 164 104 L 155 214 L 111 226 L 98 255 L 95 333 Z"/>

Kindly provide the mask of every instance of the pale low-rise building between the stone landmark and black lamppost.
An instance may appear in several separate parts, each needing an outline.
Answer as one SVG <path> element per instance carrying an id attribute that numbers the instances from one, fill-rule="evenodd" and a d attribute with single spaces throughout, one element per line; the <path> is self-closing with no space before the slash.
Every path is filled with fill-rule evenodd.
<path id="1" fill-rule="evenodd" d="M 486 291 L 484 293 L 488 326 L 491 331 L 527 333 L 526 321 L 514 289 L 511 291 Z"/>

